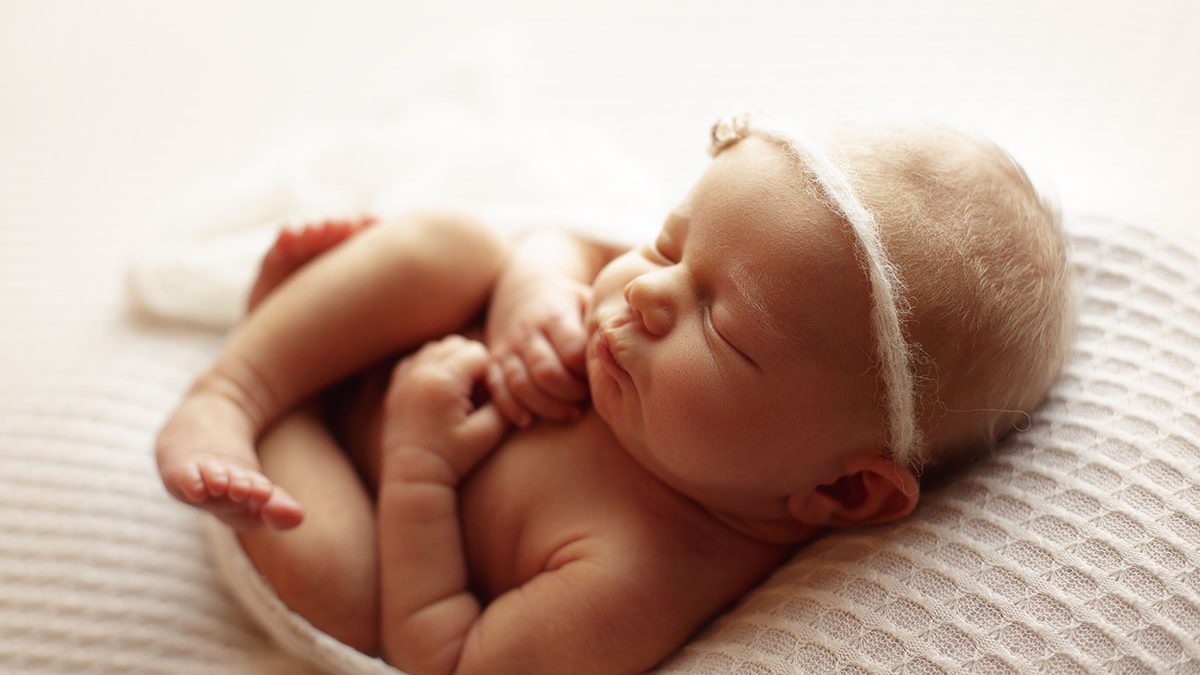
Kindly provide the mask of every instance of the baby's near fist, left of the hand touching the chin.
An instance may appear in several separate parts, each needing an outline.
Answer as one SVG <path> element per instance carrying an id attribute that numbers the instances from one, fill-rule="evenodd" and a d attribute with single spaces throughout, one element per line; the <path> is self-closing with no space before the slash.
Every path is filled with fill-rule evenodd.
<path id="1" fill-rule="evenodd" d="M 472 393 L 487 369 L 482 342 L 451 335 L 421 347 L 396 368 L 384 410 L 384 461 L 432 453 L 457 482 L 500 442 L 508 422 L 491 404 L 475 407 Z"/>

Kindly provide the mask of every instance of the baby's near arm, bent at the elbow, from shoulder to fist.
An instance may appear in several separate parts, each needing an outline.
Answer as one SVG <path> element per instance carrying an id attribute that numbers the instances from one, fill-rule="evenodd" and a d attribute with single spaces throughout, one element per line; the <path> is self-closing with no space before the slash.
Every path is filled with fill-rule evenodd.
<path id="1" fill-rule="evenodd" d="M 491 404 L 470 402 L 487 359 L 450 338 L 394 376 L 377 506 L 384 657 L 414 675 L 650 668 L 731 593 L 668 545 L 584 533 L 486 609 L 468 587 L 456 489 L 505 430 Z"/>

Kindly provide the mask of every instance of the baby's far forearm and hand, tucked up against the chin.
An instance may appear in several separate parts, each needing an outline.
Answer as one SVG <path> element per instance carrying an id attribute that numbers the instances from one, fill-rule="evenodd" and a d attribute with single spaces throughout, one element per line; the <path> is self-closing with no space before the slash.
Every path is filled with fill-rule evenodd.
<path id="1" fill-rule="evenodd" d="M 514 423 L 528 426 L 534 414 L 565 420 L 580 413 L 588 395 L 583 309 L 592 280 L 620 252 L 564 231 L 533 231 L 517 239 L 487 318 L 496 362 L 488 388 Z"/>

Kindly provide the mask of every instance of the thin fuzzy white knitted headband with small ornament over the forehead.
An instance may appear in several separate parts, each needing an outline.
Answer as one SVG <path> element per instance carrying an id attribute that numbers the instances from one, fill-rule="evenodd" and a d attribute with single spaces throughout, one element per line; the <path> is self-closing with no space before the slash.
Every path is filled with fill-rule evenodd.
<path id="1" fill-rule="evenodd" d="M 830 205 L 850 222 L 858 238 L 865 258 L 864 267 L 871 282 L 874 305 L 871 323 L 875 325 L 876 351 L 887 392 L 888 446 L 895 461 L 906 466 L 918 466 L 923 453 L 913 402 L 911 350 L 905 340 L 904 330 L 900 328 L 900 317 L 905 313 L 900 304 L 904 286 L 880 241 L 875 217 L 859 202 L 846 174 L 808 138 L 793 132 L 785 132 L 778 126 L 763 124 L 761 120 L 756 120 L 751 126 L 748 113 L 722 118 L 713 125 L 709 153 L 715 157 L 725 148 L 750 135 L 780 145 L 802 166 L 808 167 L 833 202 Z"/>

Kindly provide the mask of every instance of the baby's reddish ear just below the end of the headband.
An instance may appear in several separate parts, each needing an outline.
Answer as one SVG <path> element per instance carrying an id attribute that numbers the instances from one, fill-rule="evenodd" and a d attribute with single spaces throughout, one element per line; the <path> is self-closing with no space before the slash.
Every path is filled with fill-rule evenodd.
<path id="1" fill-rule="evenodd" d="M 796 520 L 816 527 L 877 525 L 908 515 L 920 497 L 917 477 L 878 453 L 847 462 L 846 473 L 787 498 Z"/>

